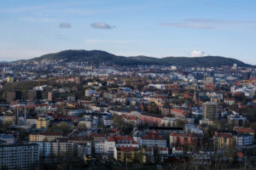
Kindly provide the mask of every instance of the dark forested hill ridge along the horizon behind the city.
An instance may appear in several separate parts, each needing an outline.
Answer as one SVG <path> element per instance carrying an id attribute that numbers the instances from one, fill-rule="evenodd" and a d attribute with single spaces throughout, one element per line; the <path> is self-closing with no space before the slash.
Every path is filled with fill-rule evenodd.
<path id="1" fill-rule="evenodd" d="M 107 65 L 181 65 L 181 66 L 204 66 L 216 67 L 220 65 L 252 66 L 237 59 L 220 56 L 206 57 L 166 57 L 154 58 L 147 56 L 124 57 L 109 54 L 100 50 L 66 50 L 55 54 L 45 54 L 41 57 L 30 59 L 32 61 L 57 61 L 57 62 L 89 62 L 92 64 Z"/>

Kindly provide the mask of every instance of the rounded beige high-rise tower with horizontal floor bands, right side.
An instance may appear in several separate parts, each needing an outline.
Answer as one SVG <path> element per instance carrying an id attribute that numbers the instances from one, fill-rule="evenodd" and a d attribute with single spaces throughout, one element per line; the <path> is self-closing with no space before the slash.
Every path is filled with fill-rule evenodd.
<path id="1" fill-rule="evenodd" d="M 218 118 L 218 104 L 209 101 L 203 104 L 203 118 L 214 121 Z"/>

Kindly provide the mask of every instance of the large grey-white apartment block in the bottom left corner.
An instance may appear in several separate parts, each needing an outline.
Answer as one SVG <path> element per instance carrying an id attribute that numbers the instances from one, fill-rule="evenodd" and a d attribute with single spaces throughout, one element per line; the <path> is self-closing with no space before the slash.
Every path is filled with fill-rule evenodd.
<path id="1" fill-rule="evenodd" d="M 37 170 L 38 144 L 0 145 L 0 169 Z"/>

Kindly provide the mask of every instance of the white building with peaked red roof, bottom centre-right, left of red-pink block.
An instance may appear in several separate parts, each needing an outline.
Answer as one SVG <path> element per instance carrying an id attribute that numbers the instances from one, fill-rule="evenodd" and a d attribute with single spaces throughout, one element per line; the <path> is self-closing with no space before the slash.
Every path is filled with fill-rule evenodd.
<path id="1" fill-rule="evenodd" d="M 157 146 L 159 148 L 166 147 L 166 139 L 160 136 L 156 131 L 151 131 L 142 137 L 142 145 L 147 147 Z"/>

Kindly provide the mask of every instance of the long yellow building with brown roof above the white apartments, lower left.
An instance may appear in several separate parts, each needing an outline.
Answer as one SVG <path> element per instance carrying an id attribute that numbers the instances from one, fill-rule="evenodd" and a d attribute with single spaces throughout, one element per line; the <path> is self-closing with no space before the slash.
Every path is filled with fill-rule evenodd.
<path id="1" fill-rule="evenodd" d="M 61 139 L 62 133 L 31 133 L 29 134 L 30 142 L 51 142 L 55 139 Z"/>

